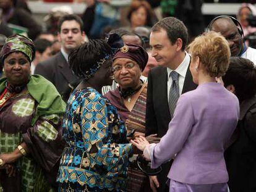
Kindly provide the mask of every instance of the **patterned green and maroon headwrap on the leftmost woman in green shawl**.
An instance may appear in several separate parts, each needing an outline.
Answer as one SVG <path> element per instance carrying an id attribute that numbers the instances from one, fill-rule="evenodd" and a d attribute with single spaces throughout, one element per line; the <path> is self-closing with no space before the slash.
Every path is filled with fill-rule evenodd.
<path id="1" fill-rule="evenodd" d="M 27 56 L 30 63 L 35 57 L 35 46 L 33 41 L 23 35 L 12 35 L 7 38 L 6 43 L 2 47 L 1 59 L 4 61 L 6 57 L 12 52 L 22 52 Z"/>

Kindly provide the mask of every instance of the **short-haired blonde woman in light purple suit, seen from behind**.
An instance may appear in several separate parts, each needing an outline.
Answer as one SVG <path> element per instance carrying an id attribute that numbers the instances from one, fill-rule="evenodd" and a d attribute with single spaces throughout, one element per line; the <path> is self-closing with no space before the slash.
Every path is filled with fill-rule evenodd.
<path id="1" fill-rule="evenodd" d="M 169 130 L 158 144 L 142 136 L 132 141 L 159 167 L 174 158 L 169 171 L 169 191 L 228 191 L 224 146 L 239 119 L 239 101 L 219 83 L 228 69 L 228 41 L 213 31 L 198 36 L 190 44 L 190 71 L 198 87 L 177 101 Z"/>

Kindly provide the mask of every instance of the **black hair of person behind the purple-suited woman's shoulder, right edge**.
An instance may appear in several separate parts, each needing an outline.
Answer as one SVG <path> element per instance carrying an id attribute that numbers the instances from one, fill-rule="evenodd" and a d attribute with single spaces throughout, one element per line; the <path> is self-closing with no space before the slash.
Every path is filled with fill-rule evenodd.
<path id="1" fill-rule="evenodd" d="M 224 86 L 234 85 L 239 102 L 250 99 L 256 94 L 256 67 L 249 59 L 231 57 L 226 75 L 223 76 Z"/>

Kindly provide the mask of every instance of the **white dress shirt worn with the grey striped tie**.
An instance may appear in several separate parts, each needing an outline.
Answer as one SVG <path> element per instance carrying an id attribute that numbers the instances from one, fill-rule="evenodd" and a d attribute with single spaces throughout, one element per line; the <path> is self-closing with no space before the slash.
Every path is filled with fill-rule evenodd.
<path id="1" fill-rule="evenodd" d="M 182 93 L 182 89 L 183 89 L 183 85 L 184 85 L 184 81 L 185 81 L 185 77 L 186 77 L 186 73 L 187 70 L 189 70 L 189 62 L 190 62 L 190 56 L 189 54 L 185 51 L 186 56 L 183 59 L 183 61 L 181 62 L 181 64 L 179 65 L 179 67 L 177 67 L 177 69 L 175 69 L 174 71 L 176 71 L 177 73 L 179 73 L 179 95 L 181 95 Z M 173 70 L 169 69 L 167 67 L 167 96 L 168 96 L 168 101 L 169 101 L 169 92 L 171 89 L 171 84 L 173 83 L 173 79 L 171 78 L 170 73 Z"/>

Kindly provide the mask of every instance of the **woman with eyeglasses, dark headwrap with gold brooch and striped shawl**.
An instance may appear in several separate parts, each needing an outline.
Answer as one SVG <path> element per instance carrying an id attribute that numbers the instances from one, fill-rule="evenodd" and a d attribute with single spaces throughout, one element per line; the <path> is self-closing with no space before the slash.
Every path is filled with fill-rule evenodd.
<path id="1" fill-rule="evenodd" d="M 127 44 L 119 49 L 114 54 L 112 64 L 114 79 L 119 87 L 105 94 L 117 108 L 121 119 L 126 122 L 128 135 L 134 137 L 145 135 L 147 83 L 143 83 L 140 76 L 147 61 L 147 52 L 138 44 Z M 149 138 L 158 141 L 154 136 L 156 135 Z M 149 187 L 147 176 L 137 169 L 135 164 L 130 164 L 127 191 L 150 191 Z"/>

